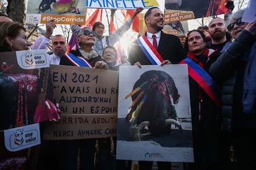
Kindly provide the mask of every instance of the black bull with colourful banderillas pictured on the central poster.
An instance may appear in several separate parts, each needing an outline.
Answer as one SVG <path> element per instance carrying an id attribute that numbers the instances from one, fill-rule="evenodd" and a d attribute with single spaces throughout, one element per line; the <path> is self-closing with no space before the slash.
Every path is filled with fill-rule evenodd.
<path id="1" fill-rule="evenodd" d="M 126 99 L 129 97 L 132 104 L 126 122 L 130 124 L 129 135 L 134 140 L 142 140 L 147 134 L 169 134 L 171 124 L 182 129 L 173 105 L 179 102 L 179 93 L 173 78 L 164 71 L 143 73 Z"/>

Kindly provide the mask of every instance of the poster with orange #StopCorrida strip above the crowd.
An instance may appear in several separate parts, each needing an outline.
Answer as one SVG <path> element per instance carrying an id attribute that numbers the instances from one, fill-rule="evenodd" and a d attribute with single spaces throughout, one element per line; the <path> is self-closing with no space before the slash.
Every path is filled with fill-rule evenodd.
<path id="1" fill-rule="evenodd" d="M 56 24 L 85 23 L 85 0 L 28 0 L 25 23 L 47 23 L 54 19 Z"/>

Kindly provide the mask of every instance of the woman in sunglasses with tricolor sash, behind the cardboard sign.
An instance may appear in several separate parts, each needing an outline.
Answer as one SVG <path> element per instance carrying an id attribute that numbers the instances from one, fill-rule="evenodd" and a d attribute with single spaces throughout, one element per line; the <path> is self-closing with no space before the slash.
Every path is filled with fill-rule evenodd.
<path id="1" fill-rule="evenodd" d="M 93 49 L 96 33 L 89 27 L 83 27 L 77 34 L 79 47 L 61 57 L 60 65 L 93 67 L 108 70 L 108 64 Z M 94 169 L 96 139 L 60 140 L 60 169 L 77 169 L 77 156 L 80 158 L 80 169 Z"/>

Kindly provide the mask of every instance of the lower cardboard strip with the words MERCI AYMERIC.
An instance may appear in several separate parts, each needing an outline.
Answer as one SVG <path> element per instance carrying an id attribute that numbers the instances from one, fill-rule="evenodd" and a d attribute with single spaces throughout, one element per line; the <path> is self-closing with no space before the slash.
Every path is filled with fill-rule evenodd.
<path id="1" fill-rule="evenodd" d="M 61 116 L 57 122 L 45 123 L 44 139 L 68 140 L 116 136 L 117 115 L 86 114 Z"/>

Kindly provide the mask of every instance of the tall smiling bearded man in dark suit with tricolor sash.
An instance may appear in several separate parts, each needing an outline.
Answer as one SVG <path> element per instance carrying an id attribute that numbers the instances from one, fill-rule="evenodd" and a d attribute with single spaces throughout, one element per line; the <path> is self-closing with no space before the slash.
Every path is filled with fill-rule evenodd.
<path id="1" fill-rule="evenodd" d="M 165 34 L 163 31 L 163 13 L 158 7 L 151 7 L 145 14 L 147 32 L 132 42 L 128 53 L 128 61 L 131 65 L 164 65 L 179 63 L 184 59 L 184 49 L 177 36 Z M 157 47 L 153 46 L 155 34 Z M 153 162 L 139 161 L 140 170 L 152 168 Z M 158 162 L 158 169 L 171 169 L 171 163 Z"/>

